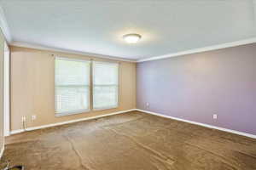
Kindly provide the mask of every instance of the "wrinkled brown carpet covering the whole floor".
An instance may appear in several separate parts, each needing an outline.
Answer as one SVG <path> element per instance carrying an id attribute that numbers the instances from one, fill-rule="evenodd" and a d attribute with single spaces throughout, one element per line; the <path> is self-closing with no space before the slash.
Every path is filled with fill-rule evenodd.
<path id="1" fill-rule="evenodd" d="M 256 139 L 133 111 L 20 133 L 2 159 L 25 170 L 255 170 Z"/>

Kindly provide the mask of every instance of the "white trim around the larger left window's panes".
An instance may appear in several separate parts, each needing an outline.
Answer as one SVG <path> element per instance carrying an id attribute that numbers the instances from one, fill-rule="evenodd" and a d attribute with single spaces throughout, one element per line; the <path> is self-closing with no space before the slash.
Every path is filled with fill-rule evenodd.
<path id="1" fill-rule="evenodd" d="M 68 60 L 68 61 L 79 61 L 79 62 L 85 62 L 85 63 L 89 63 L 90 66 L 91 66 L 91 61 L 90 59 L 71 59 L 71 58 L 68 58 L 68 57 L 61 57 L 61 56 L 55 56 L 55 59 L 61 59 L 61 60 Z M 55 68 L 56 69 L 56 68 Z M 54 73 L 55 75 L 55 73 Z M 90 75 L 91 75 L 91 71 L 90 71 Z M 56 105 L 55 105 L 55 117 L 59 117 L 59 116 L 70 116 L 70 115 L 77 115 L 77 114 L 82 114 L 82 113 L 86 113 L 86 112 L 90 112 L 90 105 L 91 105 L 91 101 L 90 101 L 90 84 L 91 84 L 91 80 L 90 80 L 90 75 L 89 75 L 89 85 L 88 88 L 89 88 L 89 95 L 88 95 L 88 99 L 89 99 L 89 109 L 87 110 L 73 110 L 73 111 L 62 111 L 62 112 L 57 112 L 56 111 Z M 80 87 L 79 85 L 75 85 L 75 86 L 78 86 Z M 81 87 L 84 86 L 84 85 L 81 85 Z M 56 86 L 55 87 L 68 87 L 67 86 Z M 70 85 L 69 87 L 74 87 L 73 85 Z"/>

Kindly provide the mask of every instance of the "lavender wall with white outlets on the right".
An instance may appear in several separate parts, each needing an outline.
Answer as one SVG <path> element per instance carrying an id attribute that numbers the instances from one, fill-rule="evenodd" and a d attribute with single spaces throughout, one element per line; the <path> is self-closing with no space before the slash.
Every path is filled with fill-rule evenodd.
<path id="1" fill-rule="evenodd" d="M 138 63 L 137 108 L 256 135 L 256 43 Z"/>

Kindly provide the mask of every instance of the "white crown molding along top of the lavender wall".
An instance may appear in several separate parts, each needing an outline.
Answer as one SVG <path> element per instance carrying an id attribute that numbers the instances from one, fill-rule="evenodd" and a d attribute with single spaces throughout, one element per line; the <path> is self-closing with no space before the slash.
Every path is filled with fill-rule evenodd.
<path id="1" fill-rule="evenodd" d="M 246 45 L 253 42 L 256 42 L 256 37 L 248 38 L 248 39 L 236 41 L 236 42 L 222 43 L 214 46 L 209 46 L 206 48 L 195 48 L 195 49 L 190 49 L 190 50 L 186 50 L 178 53 L 154 56 L 148 59 L 137 59 L 137 62 L 139 63 L 139 62 L 150 61 L 150 60 L 166 59 L 166 58 L 177 57 L 177 56 L 186 55 L 186 54 L 196 54 L 201 52 L 207 52 L 207 51 L 212 51 L 212 50 L 221 49 L 221 48 L 231 48 L 231 47 L 236 47 L 240 45 Z"/>

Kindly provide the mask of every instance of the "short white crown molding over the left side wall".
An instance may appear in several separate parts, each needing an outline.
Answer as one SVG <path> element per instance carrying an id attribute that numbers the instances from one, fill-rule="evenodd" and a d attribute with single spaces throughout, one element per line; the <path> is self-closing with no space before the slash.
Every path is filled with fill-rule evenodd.
<path id="1" fill-rule="evenodd" d="M 3 8 L 0 5 L 0 28 L 3 31 L 3 35 L 8 43 L 12 42 L 12 37 L 9 31 L 9 26 L 5 18 Z"/>

